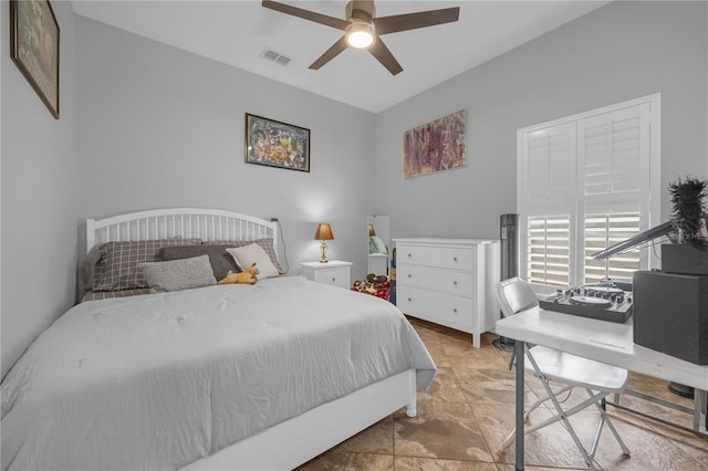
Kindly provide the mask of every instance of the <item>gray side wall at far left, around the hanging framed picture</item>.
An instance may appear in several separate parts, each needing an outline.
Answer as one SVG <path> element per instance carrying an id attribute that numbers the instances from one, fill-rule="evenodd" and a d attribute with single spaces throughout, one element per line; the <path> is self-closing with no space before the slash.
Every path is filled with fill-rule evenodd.
<path id="1" fill-rule="evenodd" d="M 2 376 L 74 302 L 79 219 L 74 13 L 67 2 L 52 2 L 61 28 L 61 118 L 55 121 L 10 60 L 8 6 L 0 2 Z"/>

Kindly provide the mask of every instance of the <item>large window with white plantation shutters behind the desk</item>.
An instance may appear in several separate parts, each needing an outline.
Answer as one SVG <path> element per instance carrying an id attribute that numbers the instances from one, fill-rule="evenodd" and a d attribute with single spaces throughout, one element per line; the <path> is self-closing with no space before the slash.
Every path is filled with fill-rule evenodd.
<path id="1" fill-rule="evenodd" d="M 659 222 L 658 94 L 520 129 L 521 269 L 531 283 L 632 279 L 650 253 L 593 254 Z"/>

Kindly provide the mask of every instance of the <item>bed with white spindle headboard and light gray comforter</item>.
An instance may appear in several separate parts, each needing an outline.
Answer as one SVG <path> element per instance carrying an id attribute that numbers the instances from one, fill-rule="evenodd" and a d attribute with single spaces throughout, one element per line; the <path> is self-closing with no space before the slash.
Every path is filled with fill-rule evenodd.
<path id="1" fill-rule="evenodd" d="M 238 254 L 263 244 L 278 273 L 253 285 L 88 290 L 2 383 L 2 469 L 293 469 L 400 408 L 415 416 L 416 388 L 436 368 L 405 316 L 281 274 L 278 240 L 275 222 L 222 210 L 87 220 L 88 281 L 106 270 L 96 268 L 106 248 L 154 241 L 243 242 Z"/>

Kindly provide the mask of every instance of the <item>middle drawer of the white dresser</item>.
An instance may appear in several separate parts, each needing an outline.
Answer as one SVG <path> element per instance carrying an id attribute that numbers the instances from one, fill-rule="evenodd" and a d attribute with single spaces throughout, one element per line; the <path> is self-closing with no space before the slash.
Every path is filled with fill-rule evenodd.
<path id="1" fill-rule="evenodd" d="M 470 296 L 477 293 L 477 276 L 471 272 L 441 270 L 405 263 L 398 265 L 396 280 L 399 285 L 445 291 L 462 296 Z"/>

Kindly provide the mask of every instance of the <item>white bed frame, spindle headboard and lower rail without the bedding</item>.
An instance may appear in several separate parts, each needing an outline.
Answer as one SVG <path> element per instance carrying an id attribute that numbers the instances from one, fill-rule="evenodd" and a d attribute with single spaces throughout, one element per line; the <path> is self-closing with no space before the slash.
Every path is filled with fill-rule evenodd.
<path id="1" fill-rule="evenodd" d="M 86 252 L 96 243 L 165 238 L 272 238 L 278 223 L 237 212 L 170 208 L 86 220 Z M 309 410 L 205 457 L 188 470 L 289 470 L 405 407 L 416 416 L 416 371 L 409 369 Z"/>

